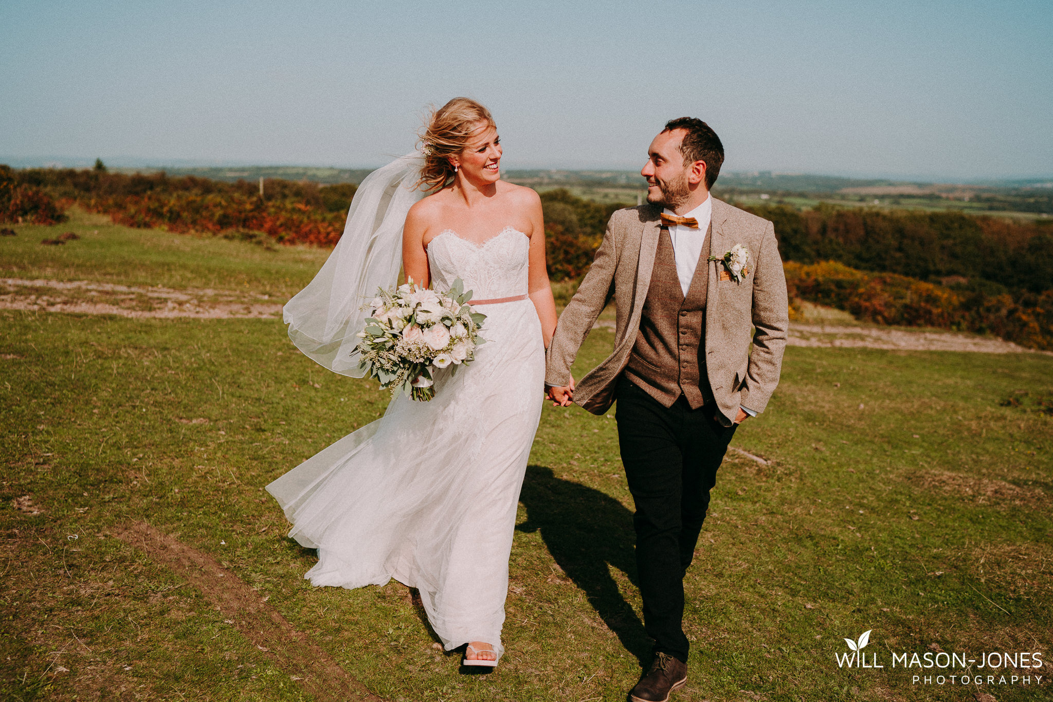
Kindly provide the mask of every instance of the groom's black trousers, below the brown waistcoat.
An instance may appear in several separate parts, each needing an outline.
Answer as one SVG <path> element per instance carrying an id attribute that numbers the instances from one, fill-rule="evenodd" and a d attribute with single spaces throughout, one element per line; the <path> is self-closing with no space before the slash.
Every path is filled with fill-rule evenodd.
<path id="1" fill-rule="evenodd" d="M 656 653 L 687 663 L 683 575 L 737 425 L 719 424 L 714 404 L 692 409 L 682 395 L 667 409 L 624 377 L 618 381 L 617 399 L 621 462 L 636 502 L 643 628 Z"/>

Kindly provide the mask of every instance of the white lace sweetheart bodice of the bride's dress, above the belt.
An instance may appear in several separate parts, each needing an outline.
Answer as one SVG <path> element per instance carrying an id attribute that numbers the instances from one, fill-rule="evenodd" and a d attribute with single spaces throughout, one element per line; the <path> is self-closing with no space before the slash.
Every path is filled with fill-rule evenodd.
<path id="1" fill-rule="evenodd" d="M 428 243 L 428 262 L 436 287 L 448 287 L 460 278 L 476 300 L 525 295 L 530 238 L 506 226 L 476 244 L 446 229 Z"/>

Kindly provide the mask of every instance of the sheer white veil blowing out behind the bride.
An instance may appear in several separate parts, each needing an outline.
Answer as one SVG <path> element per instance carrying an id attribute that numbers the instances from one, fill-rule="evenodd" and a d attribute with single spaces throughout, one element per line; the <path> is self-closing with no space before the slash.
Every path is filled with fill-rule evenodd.
<path id="1" fill-rule="evenodd" d="M 398 282 L 402 226 L 410 207 L 424 197 L 415 189 L 424 159 L 419 152 L 374 171 L 355 192 L 336 248 L 314 280 L 282 309 L 289 338 L 315 361 L 361 378 L 358 337 L 378 287 Z"/>

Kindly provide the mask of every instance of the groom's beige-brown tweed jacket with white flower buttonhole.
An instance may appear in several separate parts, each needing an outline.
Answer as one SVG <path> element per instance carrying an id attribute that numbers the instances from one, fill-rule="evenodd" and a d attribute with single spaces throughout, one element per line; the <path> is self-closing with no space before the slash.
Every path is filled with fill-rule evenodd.
<path id="1" fill-rule="evenodd" d="M 578 381 L 574 390 L 574 401 L 596 415 L 605 413 L 614 402 L 618 377 L 640 336 L 658 249 L 660 213 L 660 207 L 649 204 L 612 215 L 596 259 L 560 316 L 549 346 L 545 383 L 567 385 L 581 342 L 614 299 L 614 353 Z M 787 285 L 775 228 L 768 220 L 714 198 L 710 236 L 709 249 L 714 256 L 723 255 L 735 244 L 750 250 L 749 274 L 741 284 L 720 280 L 723 264 L 719 261 L 709 262 L 706 272 L 704 344 L 697 348 L 706 362 L 704 366 L 699 363 L 699 368 L 706 368 L 719 409 L 718 421 L 730 425 L 739 405 L 763 412 L 779 382 L 789 326 Z M 679 305 L 669 309 L 676 314 Z M 663 369 L 670 383 L 676 385 L 679 368 Z"/>

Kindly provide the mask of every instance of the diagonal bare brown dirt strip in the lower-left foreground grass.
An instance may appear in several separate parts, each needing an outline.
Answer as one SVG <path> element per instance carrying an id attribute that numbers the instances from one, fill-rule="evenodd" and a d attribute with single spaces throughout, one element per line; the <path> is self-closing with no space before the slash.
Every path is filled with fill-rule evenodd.
<path id="1" fill-rule="evenodd" d="M 241 634 L 319 700 L 384 702 L 349 676 L 302 631 L 266 604 L 259 593 L 216 559 L 145 524 L 133 522 L 116 533 L 179 574 L 232 620 Z"/>

